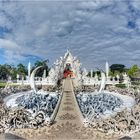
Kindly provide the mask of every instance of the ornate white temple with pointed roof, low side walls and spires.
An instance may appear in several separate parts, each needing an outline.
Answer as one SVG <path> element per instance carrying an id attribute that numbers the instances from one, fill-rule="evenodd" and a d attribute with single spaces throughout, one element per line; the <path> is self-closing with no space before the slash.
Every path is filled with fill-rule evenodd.
<path id="1" fill-rule="evenodd" d="M 57 59 L 52 68 L 49 71 L 48 76 L 46 77 L 46 71 L 44 70 L 44 74 L 42 77 L 35 77 L 35 84 L 39 85 L 52 85 L 55 86 L 58 80 L 64 78 L 64 71 L 68 67 L 68 69 L 72 72 L 71 78 L 74 81 L 75 86 L 85 85 L 85 86 L 96 86 L 102 85 L 102 88 L 105 87 L 105 84 L 115 85 L 119 84 L 120 77 L 110 77 L 109 76 L 109 64 L 105 63 L 105 74 L 102 72 L 102 76 L 99 77 L 97 73 L 93 77 L 93 71 L 91 70 L 90 76 L 85 68 L 81 69 L 80 61 L 74 57 L 69 50 L 65 53 L 63 57 Z M 28 64 L 28 76 L 26 76 L 26 80 L 19 80 L 19 76 L 17 76 L 18 84 L 29 84 L 30 83 L 30 72 L 31 72 L 31 63 Z M 124 84 L 128 87 L 130 86 L 129 77 L 124 74 Z"/>

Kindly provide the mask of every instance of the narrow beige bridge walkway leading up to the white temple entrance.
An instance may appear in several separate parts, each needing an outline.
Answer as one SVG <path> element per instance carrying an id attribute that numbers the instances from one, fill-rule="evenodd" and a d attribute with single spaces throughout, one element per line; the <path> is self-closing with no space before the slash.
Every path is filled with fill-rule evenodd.
<path id="1" fill-rule="evenodd" d="M 82 126 L 80 115 L 79 106 L 73 92 L 72 80 L 67 78 L 64 80 L 63 95 L 55 121 L 57 124 L 70 121 L 78 126 Z"/>

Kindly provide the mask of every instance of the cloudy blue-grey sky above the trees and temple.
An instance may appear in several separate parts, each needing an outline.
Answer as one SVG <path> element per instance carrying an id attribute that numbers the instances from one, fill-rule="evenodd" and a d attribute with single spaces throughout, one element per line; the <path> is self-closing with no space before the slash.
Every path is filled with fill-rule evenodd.
<path id="1" fill-rule="evenodd" d="M 140 1 L 0 2 L 0 63 L 52 64 L 68 48 L 88 69 L 140 66 Z"/>

